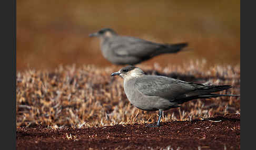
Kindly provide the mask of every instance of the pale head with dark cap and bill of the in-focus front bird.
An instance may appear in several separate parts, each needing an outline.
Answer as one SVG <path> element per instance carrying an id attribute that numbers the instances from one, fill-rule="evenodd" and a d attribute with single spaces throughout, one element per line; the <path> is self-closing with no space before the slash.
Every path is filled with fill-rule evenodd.
<path id="1" fill-rule="evenodd" d="M 132 78 L 138 78 L 143 74 L 144 72 L 139 67 L 127 66 L 121 68 L 118 72 L 112 73 L 111 76 L 121 76 L 124 80 L 129 80 Z"/>

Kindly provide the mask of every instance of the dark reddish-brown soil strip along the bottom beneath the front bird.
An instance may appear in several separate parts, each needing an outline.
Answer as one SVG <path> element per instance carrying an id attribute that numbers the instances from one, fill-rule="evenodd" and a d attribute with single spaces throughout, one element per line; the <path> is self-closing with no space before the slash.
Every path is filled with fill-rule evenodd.
<path id="1" fill-rule="evenodd" d="M 17 127 L 16 135 L 17 149 L 240 149 L 240 114 L 160 127 Z"/>

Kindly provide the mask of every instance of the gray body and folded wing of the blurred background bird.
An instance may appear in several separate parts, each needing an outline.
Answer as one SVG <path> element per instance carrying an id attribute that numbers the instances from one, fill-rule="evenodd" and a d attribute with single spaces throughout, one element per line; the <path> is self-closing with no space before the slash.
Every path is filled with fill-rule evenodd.
<path id="1" fill-rule="evenodd" d="M 151 55 L 162 45 L 140 38 L 117 36 L 109 40 L 109 47 L 118 56 L 144 57 Z"/>

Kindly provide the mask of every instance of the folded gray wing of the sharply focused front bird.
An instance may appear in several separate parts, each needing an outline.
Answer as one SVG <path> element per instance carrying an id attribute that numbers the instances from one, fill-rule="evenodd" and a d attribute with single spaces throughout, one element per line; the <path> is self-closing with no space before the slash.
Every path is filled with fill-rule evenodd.
<path id="1" fill-rule="evenodd" d="M 135 88 L 144 95 L 166 99 L 182 99 L 212 92 L 207 85 L 150 75 L 137 78 Z"/>

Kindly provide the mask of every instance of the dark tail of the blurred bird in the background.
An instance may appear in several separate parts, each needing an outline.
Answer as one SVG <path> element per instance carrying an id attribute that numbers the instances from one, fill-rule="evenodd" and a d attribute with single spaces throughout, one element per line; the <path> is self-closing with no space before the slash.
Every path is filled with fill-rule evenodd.
<path id="1" fill-rule="evenodd" d="M 162 45 L 159 50 L 156 50 L 153 56 L 161 55 L 163 53 L 176 53 L 182 50 L 184 47 L 188 46 L 187 42 L 179 43 L 179 44 L 170 44 L 170 45 Z"/>

